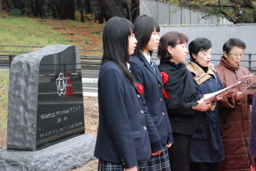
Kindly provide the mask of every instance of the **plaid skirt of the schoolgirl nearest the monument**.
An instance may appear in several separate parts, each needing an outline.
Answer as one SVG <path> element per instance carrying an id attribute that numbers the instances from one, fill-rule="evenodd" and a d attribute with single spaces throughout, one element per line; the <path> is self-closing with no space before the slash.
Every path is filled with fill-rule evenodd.
<path id="1" fill-rule="evenodd" d="M 99 159 L 98 171 L 124 171 L 124 165 Z M 137 171 L 147 171 L 146 161 L 138 164 Z"/>

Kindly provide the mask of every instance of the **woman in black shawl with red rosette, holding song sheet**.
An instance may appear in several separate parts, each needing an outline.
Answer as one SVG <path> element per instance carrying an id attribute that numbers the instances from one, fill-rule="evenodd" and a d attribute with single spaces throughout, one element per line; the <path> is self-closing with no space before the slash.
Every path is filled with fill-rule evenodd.
<path id="1" fill-rule="evenodd" d="M 160 58 L 164 101 L 171 122 L 174 144 L 168 149 L 172 171 L 190 170 L 190 145 L 195 131 L 202 131 L 200 111 L 207 111 L 210 100 L 199 100 L 198 90 L 186 69 L 186 35 L 164 34 L 157 52 Z"/>

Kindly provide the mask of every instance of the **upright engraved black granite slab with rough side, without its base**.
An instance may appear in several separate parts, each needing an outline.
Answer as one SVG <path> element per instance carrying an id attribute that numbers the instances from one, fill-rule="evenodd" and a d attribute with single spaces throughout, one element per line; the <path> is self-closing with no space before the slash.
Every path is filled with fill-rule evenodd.
<path id="1" fill-rule="evenodd" d="M 35 52 L 17 56 L 11 64 L 7 150 L 36 151 L 85 133 L 77 46 Z"/>

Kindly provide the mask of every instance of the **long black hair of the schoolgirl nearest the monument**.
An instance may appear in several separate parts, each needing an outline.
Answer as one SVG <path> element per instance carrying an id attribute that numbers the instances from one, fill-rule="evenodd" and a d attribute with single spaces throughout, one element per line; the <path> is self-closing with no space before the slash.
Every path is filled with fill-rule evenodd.
<path id="1" fill-rule="evenodd" d="M 103 57 L 101 65 L 111 60 L 117 64 L 129 82 L 133 84 L 134 77 L 127 68 L 129 62 L 129 36 L 135 32 L 133 24 L 119 17 L 111 18 L 103 30 Z"/>

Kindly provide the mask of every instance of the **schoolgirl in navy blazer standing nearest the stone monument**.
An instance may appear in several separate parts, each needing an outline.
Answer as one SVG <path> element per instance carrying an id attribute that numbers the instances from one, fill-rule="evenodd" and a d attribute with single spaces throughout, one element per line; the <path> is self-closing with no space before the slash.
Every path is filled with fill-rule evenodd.
<path id="1" fill-rule="evenodd" d="M 100 161 L 99 170 L 106 170 L 108 164 L 118 170 L 140 169 L 141 162 L 150 158 L 150 144 L 160 144 L 160 135 L 126 63 L 137 43 L 133 33 L 131 22 L 118 17 L 111 18 L 103 31 L 99 128 L 94 152 Z M 111 170 L 116 170 L 114 167 Z"/>

